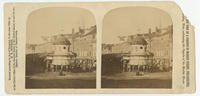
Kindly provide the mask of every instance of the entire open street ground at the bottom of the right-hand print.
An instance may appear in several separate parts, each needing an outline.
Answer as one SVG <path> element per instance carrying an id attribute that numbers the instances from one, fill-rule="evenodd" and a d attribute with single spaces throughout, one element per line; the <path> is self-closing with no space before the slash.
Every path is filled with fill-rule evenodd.
<path id="1" fill-rule="evenodd" d="M 102 76 L 102 88 L 172 88 L 171 72 L 146 73 L 124 72 Z"/>

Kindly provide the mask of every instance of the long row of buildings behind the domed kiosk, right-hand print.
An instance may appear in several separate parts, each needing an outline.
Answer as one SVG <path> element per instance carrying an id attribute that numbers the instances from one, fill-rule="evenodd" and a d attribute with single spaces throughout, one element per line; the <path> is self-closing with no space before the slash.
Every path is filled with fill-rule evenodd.
<path id="1" fill-rule="evenodd" d="M 131 42 L 134 38 L 142 37 L 146 40 L 146 51 L 152 53 L 153 63 L 149 63 L 149 66 L 156 67 L 157 70 L 169 71 L 172 68 L 172 56 L 173 56 L 173 26 L 168 26 L 166 28 L 156 28 L 155 32 L 148 32 L 144 34 L 129 35 L 123 37 L 124 41 L 118 44 L 109 44 L 111 47 L 106 47 L 106 44 L 102 45 L 102 53 L 119 53 L 119 54 L 130 54 L 133 52 Z M 134 49 L 138 50 L 138 49 Z M 156 69 L 154 68 L 154 69 Z"/>

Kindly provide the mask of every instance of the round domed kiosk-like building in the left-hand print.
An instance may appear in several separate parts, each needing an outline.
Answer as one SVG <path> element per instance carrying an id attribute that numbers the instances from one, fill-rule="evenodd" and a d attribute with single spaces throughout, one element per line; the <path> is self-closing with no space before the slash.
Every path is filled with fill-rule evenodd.
<path id="1" fill-rule="evenodd" d="M 46 56 L 46 70 L 69 71 L 70 64 L 76 57 L 75 53 L 70 51 L 70 41 L 61 35 L 59 39 L 52 43 L 54 51 Z"/>

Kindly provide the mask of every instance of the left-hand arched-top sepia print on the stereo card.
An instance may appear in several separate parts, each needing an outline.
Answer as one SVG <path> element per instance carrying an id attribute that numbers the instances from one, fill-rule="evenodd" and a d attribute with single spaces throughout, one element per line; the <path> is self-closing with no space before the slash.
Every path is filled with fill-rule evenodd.
<path id="1" fill-rule="evenodd" d="M 96 88 L 96 24 L 83 8 L 32 11 L 26 25 L 25 88 Z"/>

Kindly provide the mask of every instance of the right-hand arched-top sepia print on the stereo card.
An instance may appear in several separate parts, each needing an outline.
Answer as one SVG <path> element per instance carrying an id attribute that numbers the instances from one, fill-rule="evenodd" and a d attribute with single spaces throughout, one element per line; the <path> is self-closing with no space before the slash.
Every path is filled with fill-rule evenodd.
<path id="1" fill-rule="evenodd" d="M 120 7 L 104 16 L 102 88 L 172 88 L 173 23 L 153 7 Z"/>

